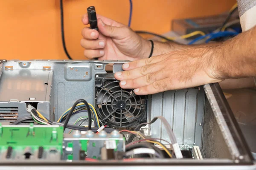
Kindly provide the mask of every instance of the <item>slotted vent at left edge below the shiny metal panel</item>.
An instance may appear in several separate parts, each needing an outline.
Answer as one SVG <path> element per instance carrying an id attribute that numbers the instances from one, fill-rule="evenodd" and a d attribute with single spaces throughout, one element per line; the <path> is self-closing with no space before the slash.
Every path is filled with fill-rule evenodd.
<path id="1" fill-rule="evenodd" d="M 0 107 L 0 121 L 14 122 L 18 119 L 18 113 L 17 107 Z"/>

